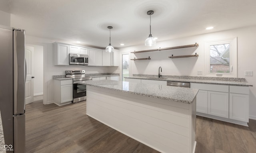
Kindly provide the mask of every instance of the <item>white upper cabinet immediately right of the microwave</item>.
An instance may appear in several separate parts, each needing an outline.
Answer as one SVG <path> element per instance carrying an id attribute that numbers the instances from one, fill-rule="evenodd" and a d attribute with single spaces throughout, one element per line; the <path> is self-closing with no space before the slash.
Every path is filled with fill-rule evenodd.
<path id="1" fill-rule="evenodd" d="M 102 50 L 88 49 L 88 66 L 102 66 Z"/>

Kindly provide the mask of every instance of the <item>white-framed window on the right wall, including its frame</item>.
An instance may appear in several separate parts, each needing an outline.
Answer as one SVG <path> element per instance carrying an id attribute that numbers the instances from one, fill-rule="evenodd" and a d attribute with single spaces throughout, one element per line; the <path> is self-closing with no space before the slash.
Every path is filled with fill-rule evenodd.
<path id="1" fill-rule="evenodd" d="M 204 43 L 206 76 L 237 77 L 237 39 Z"/>

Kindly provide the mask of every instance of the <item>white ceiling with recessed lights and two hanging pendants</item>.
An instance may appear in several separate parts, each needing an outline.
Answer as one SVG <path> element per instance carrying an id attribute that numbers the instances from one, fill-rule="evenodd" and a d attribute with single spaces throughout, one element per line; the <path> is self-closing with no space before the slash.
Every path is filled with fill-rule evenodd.
<path id="1" fill-rule="evenodd" d="M 120 48 L 256 25 L 256 0 L 4 0 L 11 26 L 27 35 L 77 45 Z M 208 26 L 214 29 L 206 30 Z M 80 44 L 76 41 L 81 41 Z"/>

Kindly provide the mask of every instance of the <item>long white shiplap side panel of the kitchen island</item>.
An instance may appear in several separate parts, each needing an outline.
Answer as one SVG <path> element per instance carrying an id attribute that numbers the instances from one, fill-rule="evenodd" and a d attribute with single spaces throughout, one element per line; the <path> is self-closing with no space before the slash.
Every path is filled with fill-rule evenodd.
<path id="1" fill-rule="evenodd" d="M 86 103 L 88 116 L 162 153 L 193 151 L 191 104 L 94 86 Z"/>

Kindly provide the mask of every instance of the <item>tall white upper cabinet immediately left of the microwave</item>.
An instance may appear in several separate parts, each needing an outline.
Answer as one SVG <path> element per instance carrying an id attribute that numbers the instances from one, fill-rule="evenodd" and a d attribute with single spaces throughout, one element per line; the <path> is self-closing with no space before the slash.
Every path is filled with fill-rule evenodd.
<path id="1" fill-rule="evenodd" d="M 54 43 L 54 65 L 69 65 L 69 45 Z"/>

